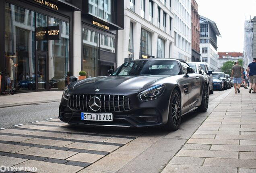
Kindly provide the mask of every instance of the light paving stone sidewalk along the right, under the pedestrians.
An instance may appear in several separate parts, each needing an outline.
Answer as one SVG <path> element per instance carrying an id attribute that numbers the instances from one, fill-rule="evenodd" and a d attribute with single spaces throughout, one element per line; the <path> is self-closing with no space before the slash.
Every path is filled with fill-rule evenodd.
<path id="1" fill-rule="evenodd" d="M 256 94 L 229 93 L 161 173 L 173 172 L 256 173 Z"/>

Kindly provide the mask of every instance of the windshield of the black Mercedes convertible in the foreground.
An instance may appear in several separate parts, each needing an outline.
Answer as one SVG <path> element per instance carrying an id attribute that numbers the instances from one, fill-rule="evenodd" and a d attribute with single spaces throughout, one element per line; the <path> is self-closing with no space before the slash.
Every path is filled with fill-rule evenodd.
<path id="1" fill-rule="evenodd" d="M 178 75 L 181 74 L 175 60 L 136 60 L 122 64 L 111 76 Z"/>

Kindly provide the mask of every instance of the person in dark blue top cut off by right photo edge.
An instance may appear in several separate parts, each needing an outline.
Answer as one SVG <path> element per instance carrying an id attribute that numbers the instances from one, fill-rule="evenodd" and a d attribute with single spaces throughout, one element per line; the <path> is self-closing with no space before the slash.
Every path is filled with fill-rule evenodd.
<path id="1" fill-rule="evenodd" d="M 248 65 L 247 75 L 250 80 L 250 90 L 249 93 L 256 93 L 256 58 L 252 59 L 252 62 Z"/>

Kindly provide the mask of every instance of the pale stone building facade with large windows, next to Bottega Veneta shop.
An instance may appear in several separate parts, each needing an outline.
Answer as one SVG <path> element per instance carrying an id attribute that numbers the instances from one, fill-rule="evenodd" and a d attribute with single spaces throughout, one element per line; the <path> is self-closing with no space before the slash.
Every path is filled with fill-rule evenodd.
<path id="1" fill-rule="evenodd" d="M 173 58 L 172 0 L 124 2 L 124 30 L 118 30 L 118 66 L 131 59 Z"/>

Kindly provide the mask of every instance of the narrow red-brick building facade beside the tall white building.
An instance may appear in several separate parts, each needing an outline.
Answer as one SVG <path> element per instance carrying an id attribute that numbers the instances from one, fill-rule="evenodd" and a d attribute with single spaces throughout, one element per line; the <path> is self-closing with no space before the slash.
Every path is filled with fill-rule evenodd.
<path id="1" fill-rule="evenodd" d="M 194 62 L 200 62 L 200 15 L 197 12 L 198 4 L 195 0 L 191 1 L 191 31 L 192 31 L 192 52 L 191 60 Z"/>

